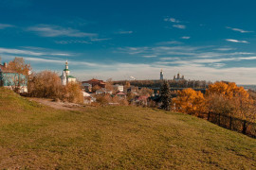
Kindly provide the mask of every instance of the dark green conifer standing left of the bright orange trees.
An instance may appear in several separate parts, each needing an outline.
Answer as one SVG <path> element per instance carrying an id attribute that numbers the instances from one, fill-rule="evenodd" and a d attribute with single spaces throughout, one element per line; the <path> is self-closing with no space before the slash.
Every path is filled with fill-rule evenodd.
<path id="1" fill-rule="evenodd" d="M 167 81 L 164 81 L 161 87 L 161 100 L 162 100 L 162 108 L 164 110 L 170 110 L 171 90 L 170 90 L 170 85 Z"/>

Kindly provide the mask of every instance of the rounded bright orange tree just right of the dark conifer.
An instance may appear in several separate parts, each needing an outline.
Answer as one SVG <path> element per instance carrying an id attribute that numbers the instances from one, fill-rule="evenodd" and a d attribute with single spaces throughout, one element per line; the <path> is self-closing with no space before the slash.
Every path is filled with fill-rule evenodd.
<path id="1" fill-rule="evenodd" d="M 189 89 L 178 91 L 177 97 L 173 99 L 174 109 L 180 112 L 199 116 L 205 111 L 204 94 Z"/>

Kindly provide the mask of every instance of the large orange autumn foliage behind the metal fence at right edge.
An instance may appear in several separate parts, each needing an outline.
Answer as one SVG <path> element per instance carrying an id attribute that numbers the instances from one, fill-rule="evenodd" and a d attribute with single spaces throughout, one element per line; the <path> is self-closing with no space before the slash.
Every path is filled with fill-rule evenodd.
<path id="1" fill-rule="evenodd" d="M 222 102 L 224 107 L 220 107 L 220 104 L 212 102 L 211 98 L 214 95 L 215 97 L 223 98 L 226 101 L 225 103 L 229 103 L 229 107 L 225 106 L 224 102 Z M 238 87 L 235 83 L 216 82 L 209 86 L 206 96 L 208 98 L 209 111 L 219 112 L 219 117 L 220 114 L 229 116 L 229 127 L 232 127 L 232 117 L 239 118 L 244 121 L 242 132 L 246 133 L 249 125 L 248 122 L 255 121 L 254 101 L 243 87 Z"/>

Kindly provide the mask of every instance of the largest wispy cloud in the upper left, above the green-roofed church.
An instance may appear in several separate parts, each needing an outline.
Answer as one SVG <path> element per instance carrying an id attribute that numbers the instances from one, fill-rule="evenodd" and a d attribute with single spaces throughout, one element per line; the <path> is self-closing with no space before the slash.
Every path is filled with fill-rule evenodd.
<path id="1" fill-rule="evenodd" d="M 62 26 L 39 25 L 30 26 L 27 31 L 32 31 L 42 37 L 96 37 L 96 33 L 86 33 L 77 29 Z"/>

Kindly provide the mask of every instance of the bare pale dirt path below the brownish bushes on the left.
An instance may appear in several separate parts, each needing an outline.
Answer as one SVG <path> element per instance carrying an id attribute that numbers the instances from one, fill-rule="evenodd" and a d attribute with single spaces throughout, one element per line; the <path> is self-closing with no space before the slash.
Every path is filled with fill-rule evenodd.
<path id="1" fill-rule="evenodd" d="M 47 98 L 32 98 L 29 97 L 28 100 L 36 101 L 43 105 L 49 106 L 51 108 L 57 110 L 81 110 L 81 105 L 75 103 L 67 103 L 67 102 L 55 102 L 52 99 Z"/>

